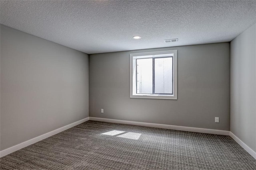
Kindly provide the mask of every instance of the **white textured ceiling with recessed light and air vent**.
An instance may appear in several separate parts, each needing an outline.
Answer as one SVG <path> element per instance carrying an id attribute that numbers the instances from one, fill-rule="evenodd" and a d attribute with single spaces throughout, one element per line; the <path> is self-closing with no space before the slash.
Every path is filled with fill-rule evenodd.
<path id="1" fill-rule="evenodd" d="M 229 42 L 256 22 L 256 0 L 1 0 L 0 5 L 1 24 L 88 54 Z M 178 42 L 164 42 L 170 38 Z"/>

